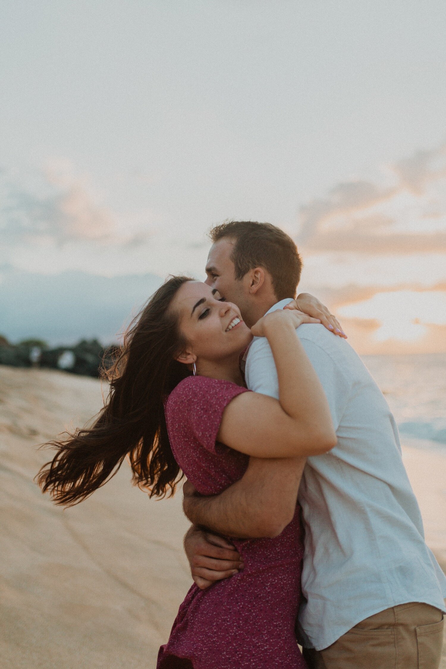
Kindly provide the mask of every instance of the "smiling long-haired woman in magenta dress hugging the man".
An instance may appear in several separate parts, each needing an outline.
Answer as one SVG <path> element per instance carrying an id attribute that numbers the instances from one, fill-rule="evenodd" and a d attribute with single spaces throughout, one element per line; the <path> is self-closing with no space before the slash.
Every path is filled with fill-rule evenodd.
<path id="1" fill-rule="evenodd" d="M 237 306 L 219 301 L 209 286 L 172 278 L 126 334 L 96 423 L 52 442 L 58 452 L 39 473 L 43 491 L 58 504 L 76 504 L 129 456 L 134 482 L 150 496 L 174 492 L 180 468 L 201 494 L 217 494 L 243 476 L 249 456 L 329 450 L 336 436 L 296 337 L 302 322 L 319 321 L 283 310 L 249 330 Z M 243 383 L 239 356 L 253 334 L 271 345 L 280 401 Z M 244 569 L 205 591 L 191 587 L 158 669 L 306 666 L 294 638 L 303 553 L 298 511 L 279 537 L 234 543 Z"/>

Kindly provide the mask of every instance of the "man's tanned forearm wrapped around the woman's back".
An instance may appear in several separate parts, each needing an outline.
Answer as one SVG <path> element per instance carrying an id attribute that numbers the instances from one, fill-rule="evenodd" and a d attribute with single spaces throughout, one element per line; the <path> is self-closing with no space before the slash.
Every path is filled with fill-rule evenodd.
<path id="1" fill-rule="evenodd" d="M 275 537 L 293 518 L 304 464 L 303 458 L 250 458 L 243 478 L 221 494 L 185 497 L 185 514 L 229 537 Z"/>

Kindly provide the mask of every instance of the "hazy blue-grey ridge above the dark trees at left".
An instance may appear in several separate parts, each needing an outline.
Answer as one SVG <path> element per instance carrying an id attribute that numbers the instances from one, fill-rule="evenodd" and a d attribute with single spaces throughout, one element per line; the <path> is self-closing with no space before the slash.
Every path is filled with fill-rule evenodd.
<path id="1" fill-rule="evenodd" d="M 34 274 L 4 265 L 0 334 L 10 341 L 36 337 L 50 345 L 81 338 L 112 343 L 160 284 L 155 274 Z"/>

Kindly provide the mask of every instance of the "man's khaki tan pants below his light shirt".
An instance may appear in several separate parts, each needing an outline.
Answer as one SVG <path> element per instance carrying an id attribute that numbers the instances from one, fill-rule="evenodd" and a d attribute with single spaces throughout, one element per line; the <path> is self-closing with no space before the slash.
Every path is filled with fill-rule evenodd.
<path id="1" fill-rule="evenodd" d="M 310 669 L 438 669 L 443 613 L 428 604 L 394 606 L 355 625 L 324 650 L 304 648 Z"/>

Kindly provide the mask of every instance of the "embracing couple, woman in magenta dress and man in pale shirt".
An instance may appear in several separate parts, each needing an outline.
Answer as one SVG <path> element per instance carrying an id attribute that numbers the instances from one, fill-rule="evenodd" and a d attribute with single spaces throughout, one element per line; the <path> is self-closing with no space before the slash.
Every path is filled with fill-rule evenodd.
<path id="1" fill-rule="evenodd" d="M 232 221 L 211 239 L 205 284 L 150 298 L 43 490 L 76 504 L 127 456 L 153 495 L 187 476 L 195 584 L 157 669 L 437 669 L 446 579 L 382 393 L 326 308 L 294 301 L 288 235 Z"/>

